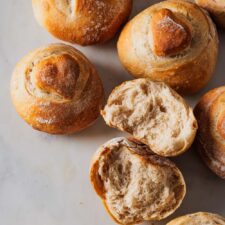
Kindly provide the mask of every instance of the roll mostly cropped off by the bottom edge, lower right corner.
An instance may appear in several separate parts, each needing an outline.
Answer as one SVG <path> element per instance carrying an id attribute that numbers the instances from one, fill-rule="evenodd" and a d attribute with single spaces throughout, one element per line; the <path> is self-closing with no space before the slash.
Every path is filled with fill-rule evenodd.
<path id="1" fill-rule="evenodd" d="M 181 216 L 167 225 L 225 225 L 225 218 L 217 214 L 199 212 Z"/>

